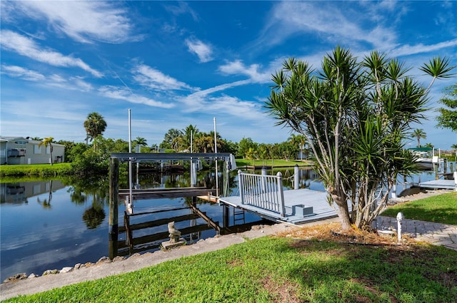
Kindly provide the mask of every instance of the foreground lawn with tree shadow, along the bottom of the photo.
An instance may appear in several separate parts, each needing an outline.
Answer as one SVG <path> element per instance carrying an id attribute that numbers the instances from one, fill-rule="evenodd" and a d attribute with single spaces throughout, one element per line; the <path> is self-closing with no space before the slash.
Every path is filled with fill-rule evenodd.
<path id="1" fill-rule="evenodd" d="M 456 302 L 457 252 L 261 237 L 10 302 Z"/>

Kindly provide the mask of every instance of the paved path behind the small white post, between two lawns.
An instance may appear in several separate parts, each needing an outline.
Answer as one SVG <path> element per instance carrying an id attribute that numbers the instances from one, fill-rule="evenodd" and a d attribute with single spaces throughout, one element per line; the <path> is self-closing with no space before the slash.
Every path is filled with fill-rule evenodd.
<path id="1" fill-rule="evenodd" d="M 397 220 L 394 217 L 379 216 L 378 230 L 387 230 L 389 227 L 397 229 Z M 429 242 L 433 245 L 443 245 L 457 250 L 457 225 L 446 225 L 418 220 L 403 220 L 401 225 L 403 234 L 416 238 L 418 241 Z"/>

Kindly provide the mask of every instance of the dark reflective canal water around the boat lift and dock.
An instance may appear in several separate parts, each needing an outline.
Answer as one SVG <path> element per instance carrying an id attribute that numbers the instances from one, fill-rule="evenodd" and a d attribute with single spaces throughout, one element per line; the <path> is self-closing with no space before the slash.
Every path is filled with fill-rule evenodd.
<path id="1" fill-rule="evenodd" d="M 256 173 L 260 173 L 257 171 Z M 268 171 L 268 174 L 276 174 Z M 285 190 L 293 189 L 293 168 L 281 170 Z M 323 190 L 312 170 L 299 170 L 300 188 Z M 197 186 L 214 186 L 211 172 L 200 172 Z M 434 180 L 424 172 L 413 178 Z M 238 195 L 237 174 L 231 173 L 230 195 Z M 140 175 L 139 188 L 188 187 L 189 174 Z M 126 181 L 121 188 L 126 188 Z M 398 194 L 401 188 L 398 188 Z M 46 269 L 96 262 L 101 257 L 159 250 L 169 240 L 167 223 L 192 244 L 217 234 L 249 230 L 251 225 L 270 224 L 233 207 L 191 198 L 138 200 L 129 217 L 131 232 L 120 232 L 115 252 L 108 236 L 109 182 L 107 178 L 63 178 L 31 182 L 0 183 L 1 251 L 0 279 L 17 273 L 43 274 Z M 119 225 L 124 225 L 125 206 L 119 206 Z M 130 235 L 130 236 L 129 236 Z M 110 251 L 111 250 L 111 251 Z"/>

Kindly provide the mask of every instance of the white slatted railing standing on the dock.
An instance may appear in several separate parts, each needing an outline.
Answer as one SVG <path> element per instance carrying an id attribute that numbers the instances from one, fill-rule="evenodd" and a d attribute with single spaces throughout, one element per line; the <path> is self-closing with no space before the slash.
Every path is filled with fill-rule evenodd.
<path id="1" fill-rule="evenodd" d="M 285 217 L 281 172 L 276 175 L 255 175 L 238 170 L 238 188 L 241 204 L 277 212 L 281 217 Z"/>

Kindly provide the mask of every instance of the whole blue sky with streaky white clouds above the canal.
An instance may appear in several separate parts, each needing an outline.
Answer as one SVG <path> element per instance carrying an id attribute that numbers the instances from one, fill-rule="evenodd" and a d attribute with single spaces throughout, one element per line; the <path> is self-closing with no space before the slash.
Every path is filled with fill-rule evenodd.
<path id="1" fill-rule="evenodd" d="M 336 45 L 378 50 L 406 66 L 457 65 L 456 1 L 1 1 L 1 135 L 83 142 L 104 116 L 106 138 L 161 143 L 188 125 L 239 142 L 283 142 L 263 104 L 288 57 L 319 68 Z M 417 68 L 411 75 L 428 85 Z M 443 88 L 431 91 L 436 108 Z M 417 128 L 436 148 L 457 134 Z M 411 145 L 416 140 L 411 139 Z"/>

